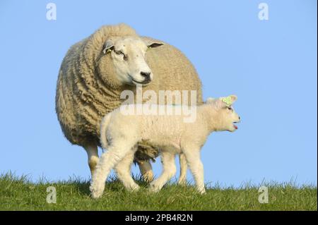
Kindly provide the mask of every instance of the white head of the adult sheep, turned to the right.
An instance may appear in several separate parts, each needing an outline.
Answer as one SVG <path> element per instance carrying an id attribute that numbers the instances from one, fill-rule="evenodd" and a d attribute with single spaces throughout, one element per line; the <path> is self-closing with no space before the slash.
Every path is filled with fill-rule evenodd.
<path id="1" fill-rule="evenodd" d="M 122 85 L 148 85 L 153 80 L 153 72 L 146 63 L 149 48 L 163 43 L 146 43 L 140 37 L 112 37 L 107 39 L 103 54 L 110 54 L 117 83 Z"/>

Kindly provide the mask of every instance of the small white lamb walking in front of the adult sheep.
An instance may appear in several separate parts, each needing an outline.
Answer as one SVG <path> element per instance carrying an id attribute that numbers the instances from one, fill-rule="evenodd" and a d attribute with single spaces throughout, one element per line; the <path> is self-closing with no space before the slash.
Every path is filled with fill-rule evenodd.
<path id="1" fill-rule="evenodd" d="M 147 140 L 158 147 L 163 163 L 162 174 L 150 184 L 152 192 L 158 192 L 175 175 L 175 154 L 182 154 L 192 171 L 196 188 L 205 193 L 204 169 L 200 160 L 201 147 L 213 131 L 234 132 L 240 116 L 232 108 L 237 97 L 209 98 L 205 104 L 192 107 L 196 119 L 185 123 L 184 113 L 177 114 L 181 106 L 170 106 L 174 114 L 158 114 L 160 105 L 155 106 L 155 114 L 124 114 L 119 107 L 107 114 L 101 123 L 100 140 L 107 152 L 102 154 L 93 174 L 90 191 L 93 198 L 102 195 L 105 181 L 111 169 L 117 171 L 119 179 L 127 190 L 138 190 L 139 186 L 131 178 L 130 169 L 138 143 Z M 152 107 L 152 106 L 151 106 Z M 182 163 L 184 166 L 184 163 Z M 187 168 L 183 168 L 187 170 Z"/>

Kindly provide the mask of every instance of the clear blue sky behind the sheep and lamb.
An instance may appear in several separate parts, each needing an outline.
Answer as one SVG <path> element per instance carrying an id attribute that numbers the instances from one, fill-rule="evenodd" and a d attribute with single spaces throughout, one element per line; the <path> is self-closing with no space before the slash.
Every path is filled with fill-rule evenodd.
<path id="1" fill-rule="evenodd" d="M 57 20 L 46 18 L 49 2 Z M 57 121 L 57 75 L 71 44 L 124 22 L 181 49 L 205 98 L 238 96 L 239 130 L 213 133 L 202 149 L 206 182 L 317 185 L 317 1 L 264 0 L 269 20 L 258 18 L 261 2 L 1 1 L 0 172 L 90 176 Z"/>

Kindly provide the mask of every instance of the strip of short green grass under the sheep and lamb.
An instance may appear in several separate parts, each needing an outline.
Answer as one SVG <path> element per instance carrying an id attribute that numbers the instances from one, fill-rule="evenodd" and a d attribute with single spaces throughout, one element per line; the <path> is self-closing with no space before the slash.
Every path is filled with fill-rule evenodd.
<path id="1" fill-rule="evenodd" d="M 31 182 L 26 176 L 0 176 L 0 210 L 317 210 L 317 187 L 293 183 L 267 183 L 269 203 L 258 201 L 258 186 L 207 189 L 199 195 L 193 186 L 170 183 L 160 193 L 141 190 L 129 193 L 116 178 L 109 179 L 99 200 L 89 196 L 89 181 Z M 47 187 L 57 190 L 57 203 L 47 203 Z"/>

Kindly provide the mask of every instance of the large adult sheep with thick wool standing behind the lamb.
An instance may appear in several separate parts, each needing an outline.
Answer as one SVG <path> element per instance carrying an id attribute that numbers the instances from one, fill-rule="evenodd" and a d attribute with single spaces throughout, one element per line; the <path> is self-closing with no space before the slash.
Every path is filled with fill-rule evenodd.
<path id="1" fill-rule="evenodd" d="M 100 121 L 119 107 L 124 90 L 196 90 L 202 104 L 201 81 L 192 63 L 170 44 L 141 37 L 125 24 L 105 25 L 74 44 L 61 63 L 56 111 L 65 137 L 88 154 L 91 174 L 98 164 Z M 135 162 L 146 180 L 153 174 L 149 159 L 158 150 L 139 143 Z"/>

